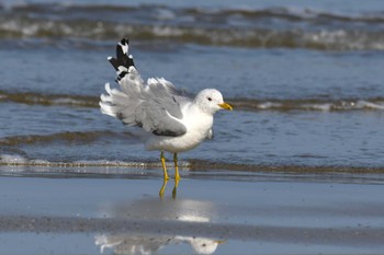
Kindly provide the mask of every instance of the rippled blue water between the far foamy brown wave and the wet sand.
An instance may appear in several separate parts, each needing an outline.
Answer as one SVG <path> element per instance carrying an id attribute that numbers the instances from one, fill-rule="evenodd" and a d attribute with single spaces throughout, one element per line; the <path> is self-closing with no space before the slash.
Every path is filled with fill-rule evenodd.
<path id="1" fill-rule="evenodd" d="M 191 93 L 218 88 L 235 106 L 231 113 L 217 114 L 213 141 L 182 153 L 181 159 L 249 165 L 383 166 L 382 53 L 180 44 L 163 51 L 155 43 L 145 44 L 149 49 L 139 42 L 133 44 L 144 77 L 165 76 Z M 157 160 L 157 153 L 143 153 L 133 129 L 98 108 L 103 83 L 114 77 L 105 62 L 105 56 L 113 54 L 112 43 L 98 50 L 43 44 L 0 54 L 4 59 L 1 68 L 7 70 L 20 69 L 20 56 L 25 59 L 24 71 L 1 74 L 3 163 L 10 162 L 10 155 L 25 162 Z"/>

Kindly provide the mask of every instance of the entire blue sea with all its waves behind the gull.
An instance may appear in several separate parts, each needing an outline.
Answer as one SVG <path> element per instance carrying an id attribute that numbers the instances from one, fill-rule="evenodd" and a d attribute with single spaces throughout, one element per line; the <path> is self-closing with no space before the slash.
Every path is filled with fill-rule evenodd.
<path id="1" fill-rule="evenodd" d="M 1 164 L 157 162 L 102 115 L 127 36 L 146 80 L 216 88 L 215 139 L 180 160 L 384 166 L 384 4 L 368 1 L 0 1 Z"/>

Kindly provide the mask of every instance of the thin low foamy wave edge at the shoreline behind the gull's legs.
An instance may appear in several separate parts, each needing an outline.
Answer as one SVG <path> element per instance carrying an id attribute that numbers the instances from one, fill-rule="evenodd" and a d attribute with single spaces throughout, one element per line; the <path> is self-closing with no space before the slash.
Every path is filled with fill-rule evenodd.
<path id="1" fill-rule="evenodd" d="M 11 166 L 11 167 L 1 167 Z M 38 166 L 32 167 L 31 166 Z M 169 163 L 171 166 L 171 163 Z M 205 160 L 190 160 L 179 162 L 179 167 L 182 171 L 191 173 L 200 172 L 204 176 L 208 173 L 214 175 L 226 176 L 226 172 L 242 173 L 285 173 L 290 174 L 324 174 L 324 173 L 384 173 L 382 167 L 357 167 L 357 166 L 314 166 L 314 165 L 256 165 L 256 164 L 236 164 L 225 162 L 212 162 Z M 16 154 L 0 154 L 0 174 L 18 174 L 29 172 L 34 174 L 102 174 L 102 175 L 132 175 L 136 174 L 129 170 L 156 170 L 156 174 L 161 175 L 161 164 L 159 162 L 127 162 L 127 161 L 108 161 L 108 160 L 90 160 L 90 161 L 74 161 L 74 162 L 53 162 L 47 160 L 27 159 Z M 143 175 L 143 173 L 140 173 Z M 231 176 L 231 175 L 230 175 Z M 229 177 L 230 177 L 229 176 Z M 246 177 L 246 176 L 245 176 Z M 280 176 L 281 177 L 281 176 Z M 260 177 L 259 177 L 260 179 Z"/>

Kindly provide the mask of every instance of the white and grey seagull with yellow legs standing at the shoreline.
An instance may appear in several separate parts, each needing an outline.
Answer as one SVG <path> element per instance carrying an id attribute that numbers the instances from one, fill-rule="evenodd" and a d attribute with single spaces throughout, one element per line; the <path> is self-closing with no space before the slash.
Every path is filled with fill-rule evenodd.
<path id="1" fill-rule="evenodd" d="M 233 107 L 215 89 L 205 89 L 189 97 L 163 78 L 149 78 L 145 83 L 128 48 L 128 39 L 123 38 L 116 45 L 116 58 L 108 58 L 116 70 L 118 89 L 105 84 L 106 94 L 100 96 L 101 113 L 145 131 L 145 148 L 160 151 L 165 183 L 169 175 L 163 152 L 173 153 L 174 181 L 178 182 L 178 153 L 212 139 L 214 114 Z"/>

